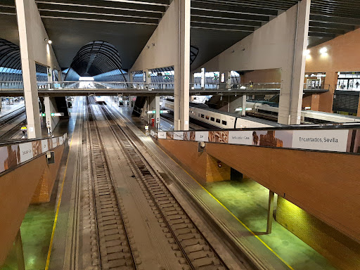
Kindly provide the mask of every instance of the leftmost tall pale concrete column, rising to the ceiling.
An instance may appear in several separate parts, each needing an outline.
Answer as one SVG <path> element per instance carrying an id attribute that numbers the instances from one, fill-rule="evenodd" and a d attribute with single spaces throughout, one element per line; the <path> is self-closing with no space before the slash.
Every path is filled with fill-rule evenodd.
<path id="1" fill-rule="evenodd" d="M 30 0 L 34 1 L 34 0 Z M 29 0 L 15 0 L 20 38 L 20 55 L 23 70 L 24 98 L 26 103 L 27 138 L 41 137 L 37 72 L 32 44 L 32 14 Z"/>

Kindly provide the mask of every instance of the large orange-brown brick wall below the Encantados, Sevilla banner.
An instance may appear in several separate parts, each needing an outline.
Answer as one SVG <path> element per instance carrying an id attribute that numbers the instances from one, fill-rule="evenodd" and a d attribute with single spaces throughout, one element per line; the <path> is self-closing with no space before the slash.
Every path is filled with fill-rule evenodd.
<path id="1" fill-rule="evenodd" d="M 159 140 L 193 176 L 203 177 L 195 142 Z M 360 243 L 360 155 L 207 143 L 206 153 Z M 202 154 L 204 155 L 204 153 Z M 197 161 L 197 157 L 199 159 Z"/>

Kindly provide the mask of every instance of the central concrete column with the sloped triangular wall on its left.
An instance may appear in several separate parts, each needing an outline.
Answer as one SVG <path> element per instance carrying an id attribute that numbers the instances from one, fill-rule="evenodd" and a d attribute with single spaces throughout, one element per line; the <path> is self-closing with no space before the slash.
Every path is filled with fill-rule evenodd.
<path id="1" fill-rule="evenodd" d="M 190 0 L 174 0 L 130 71 L 174 67 L 174 126 L 188 130 Z"/>

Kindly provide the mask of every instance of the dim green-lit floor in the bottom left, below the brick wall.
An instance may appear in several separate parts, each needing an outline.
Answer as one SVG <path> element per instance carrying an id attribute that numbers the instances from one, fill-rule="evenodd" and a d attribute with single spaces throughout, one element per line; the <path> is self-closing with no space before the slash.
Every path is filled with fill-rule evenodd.
<path id="1" fill-rule="evenodd" d="M 27 210 L 20 228 L 26 270 L 45 269 L 55 216 L 54 205 L 55 202 L 30 205 Z M 18 269 L 15 250 L 11 251 L 0 269 Z"/>

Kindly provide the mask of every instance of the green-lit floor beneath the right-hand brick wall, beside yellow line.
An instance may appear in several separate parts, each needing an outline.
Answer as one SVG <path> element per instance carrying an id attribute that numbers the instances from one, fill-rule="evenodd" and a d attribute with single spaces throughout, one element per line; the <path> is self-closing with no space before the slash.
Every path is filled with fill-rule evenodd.
<path id="1" fill-rule="evenodd" d="M 206 184 L 205 188 L 293 269 L 335 269 L 327 259 L 276 221 L 273 223 L 272 233 L 264 234 L 269 200 L 267 188 L 250 179 L 211 183 Z M 277 197 L 275 207 L 276 199 Z"/>

